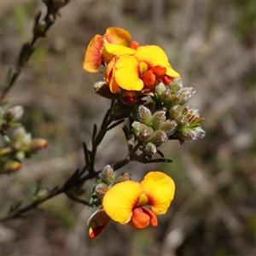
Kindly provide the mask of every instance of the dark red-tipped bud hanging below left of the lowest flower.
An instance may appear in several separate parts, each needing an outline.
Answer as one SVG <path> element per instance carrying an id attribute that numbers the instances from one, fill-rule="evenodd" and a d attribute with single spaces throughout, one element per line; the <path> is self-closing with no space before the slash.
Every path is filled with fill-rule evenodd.
<path id="1" fill-rule="evenodd" d="M 92 213 L 87 221 L 90 239 L 100 235 L 100 233 L 102 233 L 102 231 L 108 226 L 109 220 L 110 218 L 103 209 L 96 210 L 96 212 Z"/>

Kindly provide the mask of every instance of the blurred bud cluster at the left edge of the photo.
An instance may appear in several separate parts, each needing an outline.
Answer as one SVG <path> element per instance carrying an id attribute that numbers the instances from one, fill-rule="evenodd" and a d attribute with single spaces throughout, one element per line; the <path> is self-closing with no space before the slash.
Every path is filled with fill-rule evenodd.
<path id="1" fill-rule="evenodd" d="M 22 160 L 38 152 L 38 150 L 46 148 L 48 145 L 43 138 L 32 138 L 32 135 L 26 132 L 23 126 L 20 126 L 17 121 L 21 119 L 23 113 L 24 111 L 21 106 L 9 108 L 5 113 L 3 113 L 1 108 L 1 173 L 18 171 L 21 168 L 20 162 Z M 17 126 L 20 127 L 16 128 Z M 15 128 L 12 137 L 5 133 L 9 128 Z"/>

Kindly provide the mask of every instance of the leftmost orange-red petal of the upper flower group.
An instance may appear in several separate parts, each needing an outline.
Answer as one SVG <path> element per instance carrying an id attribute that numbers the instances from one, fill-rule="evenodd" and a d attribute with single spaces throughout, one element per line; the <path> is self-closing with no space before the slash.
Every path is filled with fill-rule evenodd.
<path id="1" fill-rule="evenodd" d="M 84 55 L 84 70 L 90 73 L 98 72 L 100 65 L 102 64 L 102 47 L 103 37 L 96 35 L 90 40 L 90 44 Z"/>

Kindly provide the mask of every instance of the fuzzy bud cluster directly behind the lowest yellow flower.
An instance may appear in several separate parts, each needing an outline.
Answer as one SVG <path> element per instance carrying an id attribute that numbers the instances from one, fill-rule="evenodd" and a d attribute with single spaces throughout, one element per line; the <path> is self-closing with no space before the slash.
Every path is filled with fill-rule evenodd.
<path id="1" fill-rule="evenodd" d="M 123 172 L 116 176 L 111 166 L 105 166 L 102 169 L 100 178 L 96 181 L 95 194 L 92 196 L 96 199 L 97 204 L 102 203 L 103 196 L 107 193 L 114 184 L 124 182 L 131 179 L 130 172 Z M 96 202 L 94 202 L 95 204 Z"/>

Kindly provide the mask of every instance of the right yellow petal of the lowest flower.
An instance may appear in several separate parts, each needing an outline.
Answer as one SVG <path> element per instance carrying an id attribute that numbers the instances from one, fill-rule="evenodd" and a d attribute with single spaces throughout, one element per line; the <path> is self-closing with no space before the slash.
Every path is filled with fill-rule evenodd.
<path id="1" fill-rule="evenodd" d="M 148 195 L 148 205 L 152 211 L 157 215 L 165 214 L 175 193 L 172 178 L 163 172 L 148 172 L 141 185 L 143 192 Z"/>

